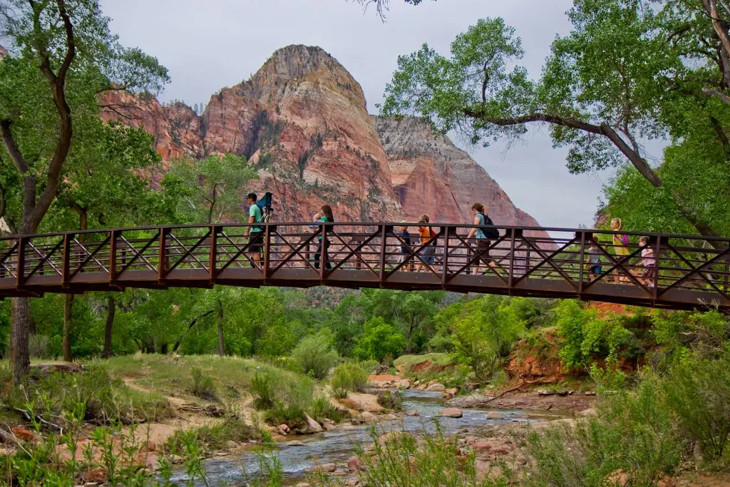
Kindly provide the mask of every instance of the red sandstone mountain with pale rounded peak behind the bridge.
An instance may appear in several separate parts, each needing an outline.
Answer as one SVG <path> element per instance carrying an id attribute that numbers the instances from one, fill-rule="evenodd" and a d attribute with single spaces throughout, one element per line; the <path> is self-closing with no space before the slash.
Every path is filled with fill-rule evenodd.
<path id="1" fill-rule="evenodd" d="M 310 220 L 328 203 L 339 221 L 471 221 L 537 226 L 468 154 L 423 120 L 374 118 L 362 88 L 319 47 L 277 50 L 250 80 L 223 88 L 196 115 L 185 104 L 115 93 L 104 118 L 143 125 L 166 164 L 178 156 L 246 156 L 274 193 L 277 220 Z M 249 188 L 246 188 L 249 189 Z"/>

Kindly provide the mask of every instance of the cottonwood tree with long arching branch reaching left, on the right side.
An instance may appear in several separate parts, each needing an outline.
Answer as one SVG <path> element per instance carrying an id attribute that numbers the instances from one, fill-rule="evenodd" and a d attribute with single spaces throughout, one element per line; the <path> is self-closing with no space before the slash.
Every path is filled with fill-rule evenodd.
<path id="1" fill-rule="evenodd" d="M 515 30 L 500 18 L 479 20 L 454 39 L 449 57 L 428 45 L 400 56 L 381 112 L 421 115 L 484 145 L 549 124 L 553 145 L 569 147 L 570 172 L 628 162 L 696 231 L 715 236 L 702 209 L 681 185 L 666 185 L 640 143 L 684 137 L 678 110 L 702 112 L 710 98 L 703 87 L 723 77 L 723 47 L 707 36 L 712 20 L 683 11 L 691 3 L 664 1 L 657 9 L 642 0 L 576 0 L 568 12 L 573 31 L 553 42 L 539 80 L 512 67 L 523 56 Z M 702 5 L 694 2 L 695 14 Z M 712 133 L 727 142 L 723 119 L 710 115 Z"/>

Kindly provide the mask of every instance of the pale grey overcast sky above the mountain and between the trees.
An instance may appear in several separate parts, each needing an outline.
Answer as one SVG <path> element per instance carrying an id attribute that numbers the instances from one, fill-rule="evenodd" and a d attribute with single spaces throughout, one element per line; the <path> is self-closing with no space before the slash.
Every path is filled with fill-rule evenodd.
<path id="1" fill-rule="evenodd" d="M 101 0 L 112 30 L 127 46 L 142 47 L 169 69 L 161 100 L 191 106 L 223 86 L 247 79 L 289 44 L 318 45 L 361 83 L 369 111 L 382 101 L 399 54 L 423 42 L 448 54 L 452 39 L 479 18 L 502 17 L 517 29 L 534 77 L 556 34 L 569 33 L 571 0 L 424 0 L 418 7 L 392 0 L 382 23 L 374 9 L 348 0 Z M 513 202 L 542 226 L 590 226 L 610 174 L 570 175 L 565 151 L 552 148 L 548 129 L 525 144 L 465 147 Z"/>

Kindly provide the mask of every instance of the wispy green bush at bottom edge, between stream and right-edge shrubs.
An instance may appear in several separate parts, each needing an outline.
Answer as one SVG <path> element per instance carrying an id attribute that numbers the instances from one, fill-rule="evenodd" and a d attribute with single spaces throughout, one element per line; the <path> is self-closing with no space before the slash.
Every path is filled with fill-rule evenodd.
<path id="1" fill-rule="evenodd" d="M 637 391 L 604 396 L 598 413 L 574 427 L 531 432 L 527 450 L 534 464 L 526 485 L 603 487 L 618 469 L 635 486 L 672 475 L 686 444 L 661 391 L 661 380 L 645 373 Z"/>

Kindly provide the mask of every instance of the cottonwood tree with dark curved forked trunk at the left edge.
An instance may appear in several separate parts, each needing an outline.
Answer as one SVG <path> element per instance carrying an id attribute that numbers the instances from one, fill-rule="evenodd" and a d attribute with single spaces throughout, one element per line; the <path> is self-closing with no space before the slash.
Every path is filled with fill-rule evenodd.
<path id="1" fill-rule="evenodd" d="M 18 215 L 13 233 L 38 231 L 75 150 L 76 129 L 99 117 L 101 93 L 159 91 L 168 80 L 154 58 L 122 47 L 108 24 L 94 0 L 7 0 L 0 5 L 0 34 L 10 42 L 9 56 L 0 62 L 0 160 L 3 172 L 14 171 L 18 184 L 5 192 L 15 198 L 6 200 L 3 209 Z M 19 209 L 8 212 L 10 205 Z M 30 320 L 28 299 L 13 299 L 15 382 L 30 364 Z"/>

